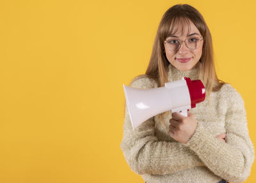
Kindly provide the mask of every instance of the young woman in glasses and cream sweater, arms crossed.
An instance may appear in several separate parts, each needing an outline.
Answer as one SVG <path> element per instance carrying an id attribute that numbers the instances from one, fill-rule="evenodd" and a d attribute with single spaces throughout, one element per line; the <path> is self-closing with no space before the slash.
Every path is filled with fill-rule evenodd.
<path id="1" fill-rule="evenodd" d="M 121 148 L 131 169 L 148 182 L 243 182 L 255 159 L 241 95 L 216 76 L 211 33 L 188 4 L 164 13 L 144 75 L 130 86 L 157 88 L 182 77 L 200 79 L 205 101 L 188 117 L 171 111 L 132 130 L 125 107 Z"/>

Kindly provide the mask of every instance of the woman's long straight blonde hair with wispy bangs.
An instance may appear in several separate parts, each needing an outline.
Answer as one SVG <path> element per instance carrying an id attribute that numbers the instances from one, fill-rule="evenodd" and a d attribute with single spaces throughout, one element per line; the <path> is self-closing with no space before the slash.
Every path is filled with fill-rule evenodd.
<path id="1" fill-rule="evenodd" d="M 220 90 L 225 82 L 218 79 L 216 75 L 211 33 L 202 15 L 198 12 L 198 10 L 189 4 L 176 4 L 164 13 L 157 29 L 157 34 L 154 40 L 152 54 L 148 63 L 147 71 L 145 74 L 135 77 L 132 82 L 140 77 L 150 77 L 156 79 L 159 87 L 164 86 L 164 83 L 168 83 L 168 76 L 166 72 L 170 62 L 167 60 L 164 53 L 163 43 L 168 36 L 177 32 L 177 25 L 179 23 L 183 25 L 183 28 L 186 24 L 188 24 L 189 28 L 189 20 L 195 24 L 196 28 L 200 31 L 200 34 L 204 38 L 202 56 L 200 61 L 195 66 L 200 66 L 198 79 L 201 79 L 204 83 L 207 97 L 209 97 L 211 92 L 217 92 Z M 184 29 L 182 29 L 182 32 L 183 31 Z M 167 114 L 168 112 L 161 113 L 159 115 L 164 117 L 164 115 Z M 163 120 L 160 121 L 166 129 Z"/>

